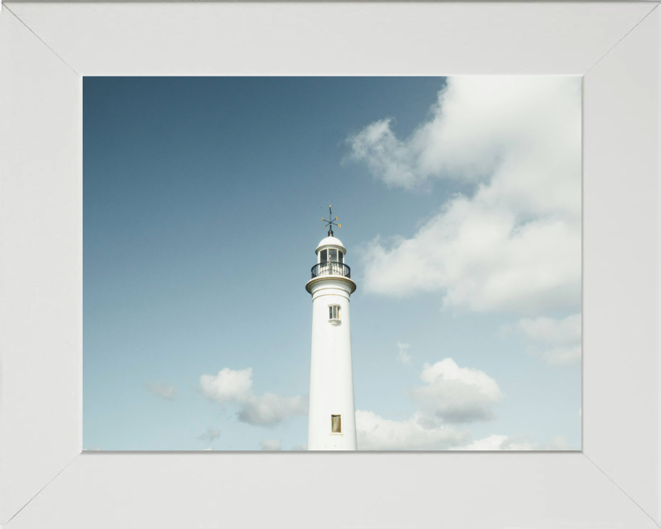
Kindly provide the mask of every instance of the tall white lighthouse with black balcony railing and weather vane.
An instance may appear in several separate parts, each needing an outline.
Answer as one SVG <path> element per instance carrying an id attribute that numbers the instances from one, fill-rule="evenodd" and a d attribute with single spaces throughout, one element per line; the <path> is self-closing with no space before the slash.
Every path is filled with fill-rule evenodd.
<path id="1" fill-rule="evenodd" d="M 337 217 L 331 212 L 330 218 L 328 237 L 317 246 L 317 264 L 305 285 L 312 294 L 308 450 L 357 450 L 349 320 L 356 284 L 344 263 L 346 249 L 333 237 Z"/>

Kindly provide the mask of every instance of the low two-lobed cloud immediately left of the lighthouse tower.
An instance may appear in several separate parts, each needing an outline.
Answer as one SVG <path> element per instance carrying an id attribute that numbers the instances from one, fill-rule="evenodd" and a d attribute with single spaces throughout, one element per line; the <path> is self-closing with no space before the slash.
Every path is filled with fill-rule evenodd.
<path id="1" fill-rule="evenodd" d="M 202 394 L 217 402 L 236 402 L 241 405 L 238 419 L 249 424 L 275 424 L 289 417 L 306 415 L 308 399 L 302 395 L 283 397 L 274 393 L 257 396 L 252 391 L 252 368 L 221 369 L 218 375 L 202 375 Z"/>

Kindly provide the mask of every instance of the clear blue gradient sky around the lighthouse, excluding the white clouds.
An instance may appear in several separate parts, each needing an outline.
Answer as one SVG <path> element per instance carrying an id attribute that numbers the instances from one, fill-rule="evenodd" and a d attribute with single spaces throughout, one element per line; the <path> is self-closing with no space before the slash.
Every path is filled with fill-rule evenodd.
<path id="1" fill-rule="evenodd" d="M 304 444 L 306 416 L 240 422 L 240 404 L 205 397 L 200 376 L 250 367 L 255 395 L 308 393 L 312 304 L 304 284 L 325 236 L 321 217 L 332 204 L 342 223 L 335 235 L 357 282 L 351 298 L 357 409 L 399 428 L 421 406 L 412 394 L 424 385 L 424 364 L 452 358 L 460 368 L 483 371 L 502 394 L 488 404 L 491 419 L 448 425 L 468 432 L 467 443 L 499 435 L 515 447 L 580 449 L 580 357 L 549 361 L 545 348 L 567 340 L 530 334 L 580 315 L 574 276 L 565 282 L 569 301 L 530 311 L 516 303 L 448 304 L 452 285 L 442 281 L 421 288 L 412 280 L 410 289 L 397 283 L 392 293 L 379 282 L 379 274 L 401 270 L 377 262 L 379 249 L 386 261 L 400 262 L 402 241 L 417 240 L 452 200 L 475 196 L 503 170 L 498 160 L 507 159 L 477 152 L 491 161 L 472 172 L 454 158 L 421 169 L 421 149 L 429 148 L 419 147 L 425 127 L 444 118 L 438 94 L 445 83 L 84 78 L 85 448 Z M 460 88 L 453 90 L 468 93 Z M 386 165 L 412 176 L 397 180 Z M 578 274 L 580 285 L 580 261 Z M 408 362 L 397 360 L 398 342 L 408 344 Z M 209 428 L 217 438 L 204 437 Z M 407 448 L 379 442 L 370 446 Z"/>

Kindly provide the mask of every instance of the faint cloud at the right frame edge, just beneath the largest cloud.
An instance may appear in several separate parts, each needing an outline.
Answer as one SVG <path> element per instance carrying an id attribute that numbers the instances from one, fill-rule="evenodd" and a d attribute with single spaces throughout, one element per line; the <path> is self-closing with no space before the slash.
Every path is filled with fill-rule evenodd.
<path id="1" fill-rule="evenodd" d="M 580 364 L 580 314 L 563 320 L 554 318 L 523 319 L 514 326 L 505 326 L 505 332 L 520 335 L 530 349 L 542 355 L 552 366 Z"/>

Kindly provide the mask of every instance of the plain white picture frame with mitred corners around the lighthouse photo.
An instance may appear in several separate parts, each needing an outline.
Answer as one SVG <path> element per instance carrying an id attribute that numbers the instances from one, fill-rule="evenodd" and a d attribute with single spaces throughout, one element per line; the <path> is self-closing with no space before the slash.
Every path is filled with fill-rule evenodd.
<path id="1" fill-rule="evenodd" d="M 7 2 L 0 526 L 660 527 L 660 16 L 658 2 Z M 581 452 L 81 453 L 82 76 L 255 74 L 583 76 Z"/>

